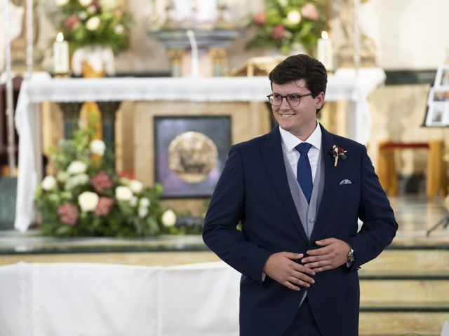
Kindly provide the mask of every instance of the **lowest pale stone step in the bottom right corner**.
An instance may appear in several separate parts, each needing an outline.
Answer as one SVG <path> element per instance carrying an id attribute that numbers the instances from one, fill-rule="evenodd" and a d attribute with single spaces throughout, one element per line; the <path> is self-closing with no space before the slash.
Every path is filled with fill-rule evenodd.
<path id="1" fill-rule="evenodd" d="M 360 336 L 439 336 L 448 311 L 367 311 L 361 308 Z"/>

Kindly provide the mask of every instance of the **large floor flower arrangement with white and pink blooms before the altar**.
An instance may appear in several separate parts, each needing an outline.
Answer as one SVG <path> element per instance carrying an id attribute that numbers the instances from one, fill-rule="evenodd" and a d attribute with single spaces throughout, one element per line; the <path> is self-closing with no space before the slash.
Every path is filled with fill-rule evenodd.
<path id="1" fill-rule="evenodd" d="M 117 176 L 112 153 L 94 134 L 93 127 L 75 130 L 72 139 L 51 149 L 58 173 L 46 176 L 35 195 L 41 232 L 59 237 L 177 233 L 176 214 L 159 205 L 162 187 L 145 188 Z"/>

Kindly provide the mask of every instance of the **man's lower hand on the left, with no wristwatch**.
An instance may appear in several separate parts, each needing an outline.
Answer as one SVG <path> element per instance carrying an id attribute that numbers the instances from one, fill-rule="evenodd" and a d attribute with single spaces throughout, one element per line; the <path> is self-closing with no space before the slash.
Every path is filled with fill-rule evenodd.
<path id="1" fill-rule="evenodd" d="M 293 261 L 303 256 L 291 252 L 274 253 L 265 262 L 263 272 L 291 290 L 300 290 L 298 286 L 310 287 L 315 280 L 309 275 L 315 275 L 315 272 Z"/>

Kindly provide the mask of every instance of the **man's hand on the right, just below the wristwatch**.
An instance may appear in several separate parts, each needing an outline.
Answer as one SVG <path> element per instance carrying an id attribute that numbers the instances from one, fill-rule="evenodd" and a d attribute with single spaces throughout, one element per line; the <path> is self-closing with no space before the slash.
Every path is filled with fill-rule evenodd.
<path id="1" fill-rule="evenodd" d="M 337 238 L 328 238 L 315 241 L 321 248 L 307 251 L 308 257 L 301 260 L 305 267 L 315 272 L 323 272 L 344 265 L 348 261 L 351 246 L 346 241 Z"/>

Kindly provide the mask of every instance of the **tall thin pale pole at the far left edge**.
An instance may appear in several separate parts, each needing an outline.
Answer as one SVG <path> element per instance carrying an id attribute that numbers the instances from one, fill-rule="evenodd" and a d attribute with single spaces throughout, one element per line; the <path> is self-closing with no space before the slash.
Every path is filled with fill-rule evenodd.
<path id="1" fill-rule="evenodd" d="M 9 1 L 3 1 L 4 30 L 5 30 L 5 70 L 6 70 L 6 120 L 8 128 L 8 168 L 9 176 L 15 172 L 15 139 L 14 139 L 14 100 L 13 100 L 13 73 L 11 70 L 11 33 L 9 18 Z"/>

